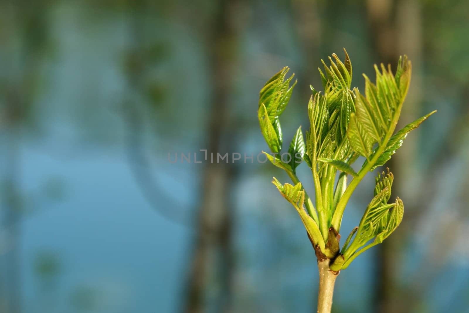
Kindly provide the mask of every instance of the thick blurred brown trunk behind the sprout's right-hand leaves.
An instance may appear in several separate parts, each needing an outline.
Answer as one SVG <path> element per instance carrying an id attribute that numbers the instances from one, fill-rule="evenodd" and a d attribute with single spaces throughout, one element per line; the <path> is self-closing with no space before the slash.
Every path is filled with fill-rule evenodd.
<path id="1" fill-rule="evenodd" d="M 401 123 L 406 124 L 418 116 L 420 105 L 421 76 L 421 19 L 419 3 L 416 0 L 368 0 L 367 13 L 372 43 L 379 62 L 391 64 L 396 69 L 399 55 L 408 54 L 412 61 L 412 82 L 401 112 Z M 400 129 L 403 125 L 398 125 Z M 406 144 L 386 164 L 394 174 L 393 197 L 399 195 L 406 212 L 418 209 L 412 197 L 415 192 L 415 137 L 406 139 Z M 375 312 L 409 312 L 406 293 L 399 282 L 400 265 L 403 259 L 403 242 L 410 233 L 408 220 L 403 219 L 400 228 L 379 244 L 377 252 Z"/>

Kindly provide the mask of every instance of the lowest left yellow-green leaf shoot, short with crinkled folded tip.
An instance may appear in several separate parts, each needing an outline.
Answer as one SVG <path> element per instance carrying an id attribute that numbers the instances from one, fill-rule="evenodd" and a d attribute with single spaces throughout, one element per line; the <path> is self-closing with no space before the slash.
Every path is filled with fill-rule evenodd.
<path id="1" fill-rule="evenodd" d="M 282 184 L 273 177 L 272 183 L 280 191 L 280 194 L 287 199 L 296 209 L 296 212 L 300 215 L 303 225 L 306 228 L 306 231 L 312 238 L 314 244 L 318 244 L 322 251 L 325 251 L 324 239 L 319 231 L 318 224 L 311 218 L 310 215 L 306 213 L 303 208 L 304 203 L 304 190 L 302 190 L 301 183 L 297 183 L 295 186 L 286 183 Z"/>

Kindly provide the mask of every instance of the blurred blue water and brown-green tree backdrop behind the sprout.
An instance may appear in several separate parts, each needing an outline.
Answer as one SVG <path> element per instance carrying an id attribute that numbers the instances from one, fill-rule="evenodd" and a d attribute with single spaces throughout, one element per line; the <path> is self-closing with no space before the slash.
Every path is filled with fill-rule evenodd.
<path id="1" fill-rule="evenodd" d="M 256 160 L 258 92 L 295 72 L 287 145 L 308 125 L 320 60 L 346 47 L 362 89 L 372 64 L 408 54 L 402 125 L 438 113 L 388 163 L 404 220 L 340 273 L 333 312 L 468 313 L 468 12 L 464 0 L 1 0 L 0 312 L 315 312 L 316 257 L 270 183 L 288 177 Z M 370 173 L 342 236 L 373 187 Z"/>

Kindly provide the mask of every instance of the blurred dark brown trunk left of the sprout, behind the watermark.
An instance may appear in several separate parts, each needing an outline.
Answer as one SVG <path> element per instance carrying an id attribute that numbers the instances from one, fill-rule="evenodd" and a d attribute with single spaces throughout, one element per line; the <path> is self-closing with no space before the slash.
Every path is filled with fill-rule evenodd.
<path id="1" fill-rule="evenodd" d="M 229 95 L 234 81 L 238 53 L 241 7 L 239 1 L 219 1 L 211 26 L 210 77 L 212 103 L 209 111 L 207 161 L 202 180 L 202 199 L 189 273 L 184 312 L 201 313 L 229 309 L 234 256 L 232 249 L 233 214 L 230 189 L 233 166 L 218 164 L 217 153 L 234 147 L 230 133 Z M 229 150 L 228 150 L 229 152 Z M 210 154 L 213 153 L 213 162 Z M 222 161 L 223 162 L 223 161 Z M 210 290 L 210 296 L 208 295 Z M 213 309 L 213 310 L 212 310 Z"/>

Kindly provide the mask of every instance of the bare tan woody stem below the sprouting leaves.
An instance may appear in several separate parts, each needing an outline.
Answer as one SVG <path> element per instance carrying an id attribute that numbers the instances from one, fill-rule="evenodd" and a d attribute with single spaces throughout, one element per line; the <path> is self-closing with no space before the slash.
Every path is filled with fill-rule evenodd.
<path id="1" fill-rule="evenodd" d="M 338 272 L 333 272 L 329 269 L 329 262 L 327 259 L 318 261 L 319 269 L 319 292 L 318 292 L 318 313 L 331 313 L 332 296 L 334 293 L 334 284 Z"/>

